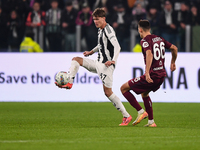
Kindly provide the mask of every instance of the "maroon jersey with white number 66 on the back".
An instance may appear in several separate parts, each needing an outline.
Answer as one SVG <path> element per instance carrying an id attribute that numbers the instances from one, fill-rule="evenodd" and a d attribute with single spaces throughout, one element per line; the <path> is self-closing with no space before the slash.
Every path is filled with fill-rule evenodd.
<path id="1" fill-rule="evenodd" d="M 142 46 L 142 53 L 144 55 L 144 62 L 146 65 L 146 51 L 151 50 L 153 60 L 150 68 L 150 76 L 162 78 L 166 76 L 165 71 L 165 48 L 169 49 L 171 43 L 157 35 L 147 35 L 140 41 Z"/>

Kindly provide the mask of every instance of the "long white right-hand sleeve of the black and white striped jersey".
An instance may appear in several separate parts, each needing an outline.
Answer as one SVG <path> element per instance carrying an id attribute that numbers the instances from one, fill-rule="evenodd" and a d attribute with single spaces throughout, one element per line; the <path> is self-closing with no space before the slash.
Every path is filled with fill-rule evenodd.
<path id="1" fill-rule="evenodd" d="M 114 56 L 113 56 L 112 61 L 116 62 L 117 58 L 119 56 L 121 47 L 120 47 L 119 42 L 117 40 L 117 37 L 115 35 L 115 31 L 113 30 L 113 28 L 111 28 L 110 26 L 107 25 L 105 27 L 105 33 L 106 33 L 106 36 L 107 36 L 108 40 L 110 41 L 110 43 L 114 47 Z"/>

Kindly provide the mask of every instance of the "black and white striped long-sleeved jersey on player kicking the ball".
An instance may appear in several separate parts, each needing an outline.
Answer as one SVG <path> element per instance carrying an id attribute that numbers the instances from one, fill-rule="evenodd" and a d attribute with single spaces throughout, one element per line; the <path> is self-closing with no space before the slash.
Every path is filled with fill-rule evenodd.
<path id="1" fill-rule="evenodd" d="M 98 45 L 93 49 L 98 51 L 98 61 L 117 61 L 121 47 L 115 35 L 114 29 L 107 24 L 105 28 L 98 31 Z"/>

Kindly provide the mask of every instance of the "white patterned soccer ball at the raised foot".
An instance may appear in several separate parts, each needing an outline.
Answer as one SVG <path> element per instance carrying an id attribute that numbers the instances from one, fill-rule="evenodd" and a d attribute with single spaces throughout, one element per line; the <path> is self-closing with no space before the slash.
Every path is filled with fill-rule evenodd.
<path id="1" fill-rule="evenodd" d="M 55 81 L 59 85 L 65 85 L 69 82 L 70 76 L 67 72 L 65 71 L 60 71 L 56 74 Z"/>

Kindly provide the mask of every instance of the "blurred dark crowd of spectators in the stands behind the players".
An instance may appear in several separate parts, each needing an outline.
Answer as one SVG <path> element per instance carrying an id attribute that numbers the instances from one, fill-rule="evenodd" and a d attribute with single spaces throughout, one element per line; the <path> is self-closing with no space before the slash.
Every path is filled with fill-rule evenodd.
<path id="1" fill-rule="evenodd" d="M 76 25 L 81 26 L 81 49 L 91 50 L 97 44 L 92 20 L 97 7 L 105 8 L 122 51 L 130 51 L 130 30 L 137 30 L 140 19 L 148 19 L 153 34 L 183 52 L 186 26 L 200 25 L 200 0 L 0 0 L 0 52 L 19 51 L 26 37 L 44 52 L 76 51 Z"/>

